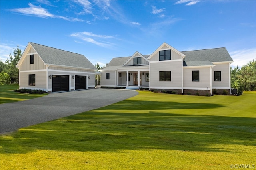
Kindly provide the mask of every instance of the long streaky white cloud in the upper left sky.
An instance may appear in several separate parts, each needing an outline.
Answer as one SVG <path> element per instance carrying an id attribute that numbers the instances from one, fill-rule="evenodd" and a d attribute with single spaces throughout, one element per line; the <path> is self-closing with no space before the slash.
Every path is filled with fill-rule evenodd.
<path id="1" fill-rule="evenodd" d="M 17 12 L 20 14 L 29 15 L 29 16 L 37 16 L 37 17 L 41 17 L 41 18 L 61 18 L 63 20 L 67 20 L 67 21 L 83 21 L 78 18 L 58 16 L 58 15 L 51 14 L 50 12 L 48 12 L 47 9 L 42 8 L 41 6 L 35 6 L 31 3 L 28 3 L 28 6 L 29 7 L 27 7 L 27 8 L 10 9 L 10 11 Z"/>

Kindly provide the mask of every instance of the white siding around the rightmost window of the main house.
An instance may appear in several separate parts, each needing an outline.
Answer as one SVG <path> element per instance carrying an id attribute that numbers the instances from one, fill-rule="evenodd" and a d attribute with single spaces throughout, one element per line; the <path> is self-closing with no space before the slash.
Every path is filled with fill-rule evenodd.
<path id="1" fill-rule="evenodd" d="M 230 89 L 230 66 L 229 63 L 214 63 L 212 68 L 212 88 L 213 89 Z M 221 71 L 221 81 L 214 81 L 214 71 Z"/>

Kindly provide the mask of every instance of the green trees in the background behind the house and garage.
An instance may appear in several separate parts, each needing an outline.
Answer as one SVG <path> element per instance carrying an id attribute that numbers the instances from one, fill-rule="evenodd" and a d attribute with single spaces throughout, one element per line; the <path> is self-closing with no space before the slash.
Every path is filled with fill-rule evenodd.
<path id="1" fill-rule="evenodd" d="M 22 55 L 19 45 L 13 49 L 12 54 L 9 55 L 10 59 L 5 62 L 0 60 L 0 84 L 17 84 L 19 82 L 19 69 L 16 68 L 18 61 Z M 106 64 L 107 66 L 108 64 Z M 95 67 L 99 70 L 104 67 L 100 67 L 97 63 Z M 242 94 L 242 91 L 254 91 L 256 90 L 256 60 L 249 61 L 246 65 L 243 65 L 241 69 L 236 66 L 231 71 L 231 88 L 237 89 L 238 94 Z M 100 77 L 99 77 L 100 79 Z M 100 80 L 99 80 L 100 81 Z M 97 78 L 96 78 L 97 82 Z"/>

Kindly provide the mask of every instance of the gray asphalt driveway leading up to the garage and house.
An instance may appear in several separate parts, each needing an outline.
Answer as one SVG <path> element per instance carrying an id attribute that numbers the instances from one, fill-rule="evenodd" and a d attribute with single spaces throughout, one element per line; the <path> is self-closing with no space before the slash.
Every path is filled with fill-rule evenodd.
<path id="1" fill-rule="evenodd" d="M 132 90 L 90 89 L 0 105 L 1 133 L 89 111 L 138 95 Z"/>

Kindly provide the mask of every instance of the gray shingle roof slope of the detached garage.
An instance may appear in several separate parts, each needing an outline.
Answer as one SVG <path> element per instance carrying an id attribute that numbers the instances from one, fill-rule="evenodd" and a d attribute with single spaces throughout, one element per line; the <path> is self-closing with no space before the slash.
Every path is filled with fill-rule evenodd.
<path id="1" fill-rule="evenodd" d="M 30 44 L 46 64 L 97 70 L 84 55 L 47 47 L 37 43 L 30 42 Z"/>

